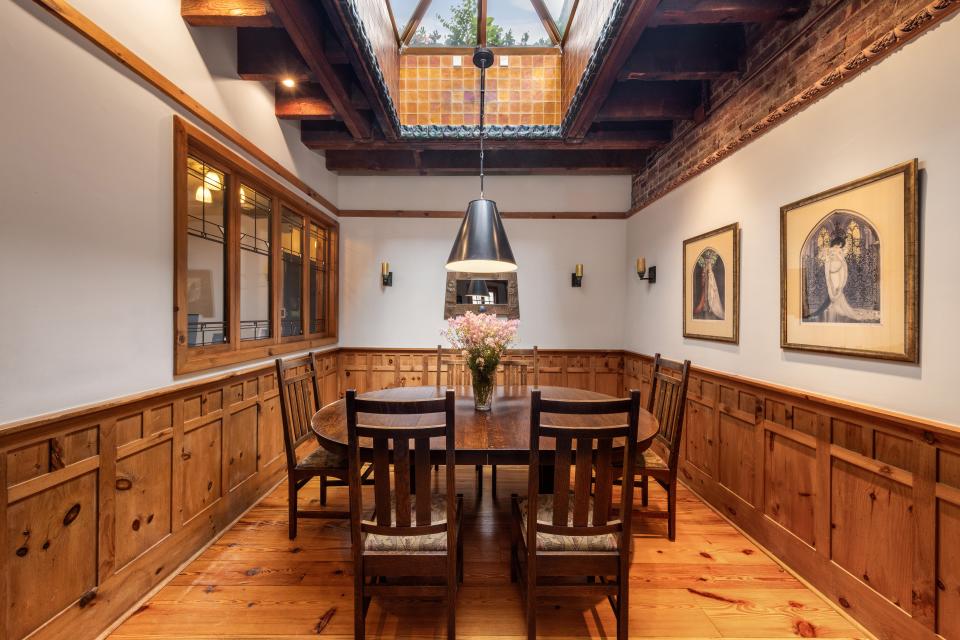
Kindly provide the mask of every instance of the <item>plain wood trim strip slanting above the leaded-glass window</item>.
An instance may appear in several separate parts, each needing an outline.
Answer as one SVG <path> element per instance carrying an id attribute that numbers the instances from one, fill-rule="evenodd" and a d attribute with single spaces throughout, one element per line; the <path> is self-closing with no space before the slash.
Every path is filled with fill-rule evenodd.
<path id="1" fill-rule="evenodd" d="M 70 5 L 70 3 L 66 2 L 65 0 L 34 0 L 34 2 L 52 13 L 54 16 L 74 29 L 87 40 L 95 44 L 112 58 L 143 78 L 148 84 L 189 111 L 192 115 L 205 122 L 208 126 L 229 140 L 231 143 L 243 149 L 245 153 L 263 163 L 277 175 L 282 176 L 284 180 L 295 186 L 303 193 L 307 194 L 320 206 L 324 207 L 335 215 L 338 213 L 336 205 L 324 198 L 319 191 L 298 178 L 292 171 L 284 167 L 278 161 L 274 160 L 273 157 L 243 136 L 243 134 L 203 106 L 199 101 L 174 84 L 173 81 L 171 81 L 165 75 L 150 66 L 150 64 L 148 64 L 143 58 L 125 47 L 116 38 L 101 29 L 92 20 L 77 11 L 72 5 Z"/>

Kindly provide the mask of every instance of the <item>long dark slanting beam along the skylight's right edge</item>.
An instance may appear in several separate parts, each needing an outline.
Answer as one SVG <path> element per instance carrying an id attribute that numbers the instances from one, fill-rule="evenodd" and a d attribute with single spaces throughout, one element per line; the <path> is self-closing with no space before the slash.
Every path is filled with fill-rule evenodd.
<path id="1" fill-rule="evenodd" d="M 653 16 L 659 0 L 636 0 L 633 2 L 620 27 L 620 33 L 614 41 L 610 52 L 604 57 L 600 69 L 593 78 L 586 98 L 580 103 L 580 108 L 567 130 L 571 138 L 583 138 L 590 125 L 596 119 L 601 106 L 606 102 L 610 90 L 617 81 L 617 74 L 637 46 L 643 30 Z"/>

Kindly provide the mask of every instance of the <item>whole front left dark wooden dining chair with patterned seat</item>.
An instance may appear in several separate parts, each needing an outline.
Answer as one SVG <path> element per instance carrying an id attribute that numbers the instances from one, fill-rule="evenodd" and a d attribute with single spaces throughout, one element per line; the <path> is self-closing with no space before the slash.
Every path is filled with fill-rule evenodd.
<path id="1" fill-rule="evenodd" d="M 347 391 L 346 404 L 354 637 L 364 637 L 371 597 L 396 595 L 445 597 L 447 637 L 454 638 L 457 591 L 463 576 L 463 539 L 460 535 L 463 497 L 454 494 L 453 390 L 448 389 L 440 399 L 391 401 L 360 399 L 351 389 Z M 443 421 L 428 426 L 368 425 L 359 422 L 360 414 L 367 419 L 380 416 L 379 421 L 383 421 L 382 416 L 442 414 Z M 372 441 L 372 511 L 365 510 L 361 492 L 361 438 Z M 443 495 L 431 494 L 430 438 L 443 438 L 445 442 L 446 486 Z M 417 578 L 418 582 L 434 578 L 439 584 L 391 583 L 393 578 Z"/>

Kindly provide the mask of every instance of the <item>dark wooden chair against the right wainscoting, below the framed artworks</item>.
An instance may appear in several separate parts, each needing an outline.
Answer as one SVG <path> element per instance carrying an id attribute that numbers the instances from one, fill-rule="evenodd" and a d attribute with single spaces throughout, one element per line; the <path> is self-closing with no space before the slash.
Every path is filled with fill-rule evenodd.
<path id="1" fill-rule="evenodd" d="M 656 417 L 660 428 L 650 448 L 637 457 L 641 504 L 648 506 L 650 478 L 667 492 L 666 511 L 647 511 L 644 514 L 666 517 L 667 538 L 671 541 L 677 539 L 677 471 L 689 379 L 689 360 L 675 362 L 662 358 L 659 353 L 654 356 L 653 386 L 647 400 L 647 411 Z"/>

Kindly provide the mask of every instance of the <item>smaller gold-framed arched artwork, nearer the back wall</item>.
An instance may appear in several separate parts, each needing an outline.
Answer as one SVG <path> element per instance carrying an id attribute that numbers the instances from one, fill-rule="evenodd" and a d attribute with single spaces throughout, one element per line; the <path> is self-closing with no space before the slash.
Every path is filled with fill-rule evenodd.
<path id="1" fill-rule="evenodd" d="M 740 341 L 740 225 L 683 241 L 683 337 Z"/>

